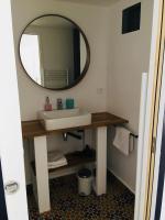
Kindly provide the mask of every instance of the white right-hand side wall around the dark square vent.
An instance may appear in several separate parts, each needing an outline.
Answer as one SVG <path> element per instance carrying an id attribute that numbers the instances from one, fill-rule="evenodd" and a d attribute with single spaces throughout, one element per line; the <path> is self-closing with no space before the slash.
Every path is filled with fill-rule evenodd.
<path id="1" fill-rule="evenodd" d="M 129 120 L 128 127 L 135 134 L 139 131 L 141 74 L 148 72 L 152 0 L 142 0 L 141 30 L 121 34 L 122 10 L 138 3 L 138 0 L 121 0 L 110 10 L 112 24 L 108 79 L 108 109 Z M 112 140 L 112 139 L 111 139 Z M 122 155 L 109 143 L 109 168 L 133 191 L 135 189 L 136 144 L 130 156 Z"/>

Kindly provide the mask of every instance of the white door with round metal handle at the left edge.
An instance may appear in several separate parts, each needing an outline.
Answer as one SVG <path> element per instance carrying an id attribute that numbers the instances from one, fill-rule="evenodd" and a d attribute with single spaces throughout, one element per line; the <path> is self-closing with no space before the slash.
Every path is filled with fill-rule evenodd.
<path id="1" fill-rule="evenodd" d="M 28 220 L 10 0 L 0 0 L 0 157 L 3 183 L 8 186 L 8 190 L 4 190 L 8 218 L 9 220 Z"/>

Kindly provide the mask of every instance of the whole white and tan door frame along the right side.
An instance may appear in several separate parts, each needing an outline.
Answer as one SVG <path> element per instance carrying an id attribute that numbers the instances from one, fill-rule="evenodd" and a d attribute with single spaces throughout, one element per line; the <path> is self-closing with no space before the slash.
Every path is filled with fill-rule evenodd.
<path id="1" fill-rule="evenodd" d="M 152 44 L 146 111 L 144 120 L 143 158 L 141 167 L 141 191 L 139 191 L 140 198 L 135 201 L 135 220 L 148 220 L 151 218 L 156 152 L 155 141 L 157 138 L 160 94 L 163 75 L 163 52 L 165 34 L 164 3 L 165 0 L 155 0 L 153 9 Z"/>

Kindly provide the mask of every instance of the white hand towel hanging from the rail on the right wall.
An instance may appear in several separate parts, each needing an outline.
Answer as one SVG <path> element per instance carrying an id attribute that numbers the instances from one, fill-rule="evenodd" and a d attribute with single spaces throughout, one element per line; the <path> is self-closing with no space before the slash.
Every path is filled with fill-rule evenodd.
<path id="1" fill-rule="evenodd" d="M 117 127 L 113 140 L 113 145 L 127 156 L 130 153 L 130 133 L 131 132 L 128 129 Z"/>

